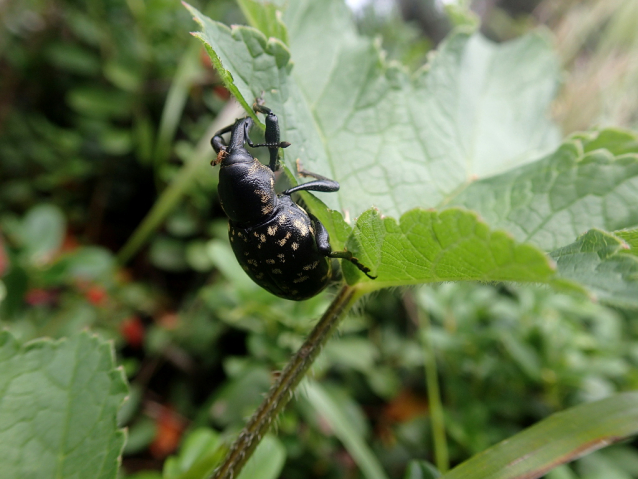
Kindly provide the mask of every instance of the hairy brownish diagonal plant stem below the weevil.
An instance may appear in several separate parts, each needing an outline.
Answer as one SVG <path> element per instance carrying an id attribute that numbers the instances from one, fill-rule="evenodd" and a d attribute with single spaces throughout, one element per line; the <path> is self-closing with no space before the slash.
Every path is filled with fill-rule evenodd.
<path id="1" fill-rule="evenodd" d="M 341 288 L 306 341 L 281 372 L 277 382 L 270 388 L 268 396 L 239 433 L 224 461 L 213 473 L 212 479 L 237 477 L 274 419 L 292 398 L 295 388 L 321 351 L 321 347 L 362 295 L 363 292 L 355 287 L 344 285 Z"/>

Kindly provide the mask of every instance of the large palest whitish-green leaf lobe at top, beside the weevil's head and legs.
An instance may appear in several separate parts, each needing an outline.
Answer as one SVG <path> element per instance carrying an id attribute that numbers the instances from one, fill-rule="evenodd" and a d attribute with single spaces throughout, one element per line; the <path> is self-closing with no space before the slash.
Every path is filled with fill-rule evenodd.
<path id="1" fill-rule="evenodd" d="M 459 31 L 410 77 L 358 36 L 341 0 L 291 2 L 284 13 L 290 51 L 254 28 L 229 29 L 189 9 L 247 111 L 264 92 L 282 139 L 292 143 L 288 167 L 300 158 L 339 181 L 337 194 L 320 198 L 351 217 L 372 205 L 395 216 L 435 207 L 474 177 L 557 144 L 546 110 L 558 67 L 542 35 L 496 45 Z"/>

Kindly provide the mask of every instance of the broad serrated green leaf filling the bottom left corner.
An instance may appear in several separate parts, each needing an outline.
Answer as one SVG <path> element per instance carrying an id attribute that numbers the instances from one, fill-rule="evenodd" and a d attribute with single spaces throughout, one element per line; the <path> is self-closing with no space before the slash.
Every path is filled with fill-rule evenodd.
<path id="1" fill-rule="evenodd" d="M 0 464 L 6 479 L 114 479 L 127 393 L 109 342 L 82 333 L 18 344 L 0 332 Z"/>

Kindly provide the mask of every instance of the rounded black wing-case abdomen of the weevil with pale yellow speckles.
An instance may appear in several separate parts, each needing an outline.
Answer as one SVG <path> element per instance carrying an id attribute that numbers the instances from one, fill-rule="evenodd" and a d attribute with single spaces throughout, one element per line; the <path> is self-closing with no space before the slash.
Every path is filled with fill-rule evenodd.
<path id="1" fill-rule="evenodd" d="M 311 298 L 331 280 L 330 259 L 317 249 L 315 226 L 290 196 L 276 197 L 274 210 L 256 226 L 229 222 L 237 261 L 262 288 L 295 301 Z"/>

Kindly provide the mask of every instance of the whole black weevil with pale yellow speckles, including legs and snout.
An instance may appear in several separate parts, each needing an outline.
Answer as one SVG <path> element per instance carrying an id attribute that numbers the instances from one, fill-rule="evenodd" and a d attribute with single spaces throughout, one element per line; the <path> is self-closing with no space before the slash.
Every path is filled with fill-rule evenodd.
<path id="1" fill-rule="evenodd" d="M 338 191 L 339 183 L 303 170 L 298 161 L 299 174 L 314 180 L 275 192 L 279 148 L 290 143 L 280 141 L 279 120 L 270 108 L 256 100 L 253 110 L 265 115 L 265 143 L 254 144 L 248 136 L 253 126 L 250 116 L 219 130 L 211 139 L 217 153 L 212 165 L 220 165 L 219 199 L 241 267 L 262 288 L 296 301 L 315 296 L 333 280 L 333 258 L 350 261 L 375 279 L 351 252 L 332 251 L 325 226 L 291 197 L 296 191 Z M 229 132 L 226 143 L 223 135 Z M 268 148 L 269 165 L 254 158 L 246 143 L 252 148 Z"/>

